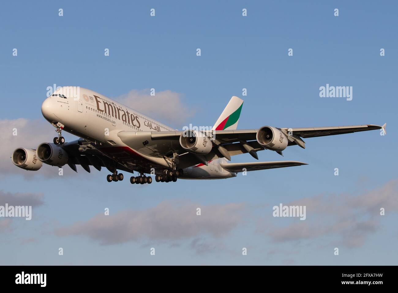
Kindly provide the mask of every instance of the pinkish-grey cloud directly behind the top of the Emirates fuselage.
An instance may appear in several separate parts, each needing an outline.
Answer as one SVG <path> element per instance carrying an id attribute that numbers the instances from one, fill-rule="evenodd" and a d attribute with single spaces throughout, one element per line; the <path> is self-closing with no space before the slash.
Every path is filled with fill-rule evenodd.
<path id="1" fill-rule="evenodd" d="M 114 99 L 160 122 L 174 124 L 180 128 L 194 114 L 183 101 L 182 94 L 171 90 L 155 91 L 154 96 L 150 95 L 149 88 L 131 90 Z"/>

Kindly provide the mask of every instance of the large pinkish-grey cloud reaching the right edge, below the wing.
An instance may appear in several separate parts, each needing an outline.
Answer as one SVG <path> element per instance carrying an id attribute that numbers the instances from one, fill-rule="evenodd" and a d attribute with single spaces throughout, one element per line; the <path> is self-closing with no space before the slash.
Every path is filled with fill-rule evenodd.
<path id="1" fill-rule="evenodd" d="M 359 247 L 369 234 L 380 227 L 380 208 L 398 212 L 398 180 L 361 195 L 317 195 L 294 201 L 289 205 L 305 205 L 307 218 L 288 226 L 258 228 L 273 242 L 310 240 L 322 236 L 338 236 L 337 242 L 347 247 Z M 264 226 L 264 223 L 260 223 Z"/>

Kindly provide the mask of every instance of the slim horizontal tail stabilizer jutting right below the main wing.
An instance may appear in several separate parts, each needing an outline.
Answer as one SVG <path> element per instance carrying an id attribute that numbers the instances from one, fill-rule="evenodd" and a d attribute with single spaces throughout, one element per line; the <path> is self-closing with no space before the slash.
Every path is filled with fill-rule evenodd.
<path id="1" fill-rule="evenodd" d="M 227 171 L 243 172 L 243 171 L 257 171 L 265 169 L 275 169 L 284 167 L 294 167 L 308 165 L 298 161 L 275 161 L 275 162 L 253 162 L 253 163 L 220 163 L 220 166 Z"/>

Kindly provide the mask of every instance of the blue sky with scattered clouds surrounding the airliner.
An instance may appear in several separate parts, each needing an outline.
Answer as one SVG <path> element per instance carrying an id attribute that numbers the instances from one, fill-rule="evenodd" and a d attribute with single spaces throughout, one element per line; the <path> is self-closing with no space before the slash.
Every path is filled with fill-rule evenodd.
<path id="1" fill-rule="evenodd" d="M 0 130 L 6 140 L 0 200 L 7 194 L 20 197 L 33 205 L 33 216 L 31 221 L 0 218 L 0 264 L 397 263 L 396 2 L 1 5 Z M 12 55 L 14 48 L 18 56 Z M 90 88 L 111 98 L 148 88 L 170 93 L 175 104 L 162 104 L 155 96 L 144 109 L 156 114 L 162 105 L 175 111 L 176 119 L 159 120 L 178 129 L 189 123 L 212 126 L 236 95 L 245 101 L 240 129 L 387 123 L 387 135 L 371 131 L 305 139 L 306 149 L 289 147 L 283 158 L 263 151 L 259 159 L 309 165 L 223 181 L 137 186 L 128 180 L 107 183 L 107 171 L 92 168 L 88 174 L 81 167 L 77 174 L 65 167 L 63 176 L 49 166 L 28 174 L 9 157 L 16 147 L 52 141 L 55 129 L 40 106 L 53 84 Z M 326 84 L 352 86 L 353 99 L 320 98 L 319 87 Z M 138 98 L 142 106 L 142 95 Z M 11 135 L 14 127 L 20 129 L 18 137 Z M 232 159 L 253 161 L 250 155 Z M 306 220 L 272 217 L 272 206 L 295 202 L 314 206 Z M 202 209 L 199 222 L 195 207 Z M 380 207 L 385 216 L 378 215 Z M 106 220 L 104 208 L 110 210 Z M 155 215 L 158 221 L 152 222 Z M 130 236 L 104 244 L 115 239 L 103 229 L 107 224 Z"/>

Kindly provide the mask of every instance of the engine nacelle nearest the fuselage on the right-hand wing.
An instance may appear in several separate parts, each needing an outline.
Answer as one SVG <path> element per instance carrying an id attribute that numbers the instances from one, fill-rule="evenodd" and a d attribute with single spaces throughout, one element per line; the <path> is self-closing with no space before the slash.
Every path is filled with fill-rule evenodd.
<path id="1" fill-rule="evenodd" d="M 207 155 L 213 147 L 210 138 L 201 132 L 190 129 L 181 133 L 179 144 L 183 149 L 198 155 Z"/>

